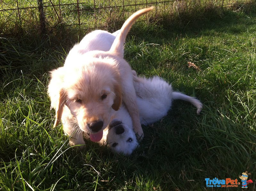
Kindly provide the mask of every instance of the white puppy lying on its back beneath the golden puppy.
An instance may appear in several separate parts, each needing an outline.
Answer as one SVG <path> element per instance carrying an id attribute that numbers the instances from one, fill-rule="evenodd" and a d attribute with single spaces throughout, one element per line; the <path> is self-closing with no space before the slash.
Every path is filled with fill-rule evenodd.
<path id="1" fill-rule="evenodd" d="M 172 106 L 172 100 L 180 99 L 192 103 L 200 113 L 203 104 L 196 98 L 173 92 L 172 86 L 158 76 L 150 79 L 140 78 L 134 72 L 133 84 L 137 96 L 137 104 L 140 113 L 140 123 L 151 125 L 163 118 Z M 106 142 L 108 147 L 117 153 L 130 155 L 139 145 L 132 128 L 131 117 L 125 107 L 116 111 L 108 128 L 104 131 L 102 144 Z"/>

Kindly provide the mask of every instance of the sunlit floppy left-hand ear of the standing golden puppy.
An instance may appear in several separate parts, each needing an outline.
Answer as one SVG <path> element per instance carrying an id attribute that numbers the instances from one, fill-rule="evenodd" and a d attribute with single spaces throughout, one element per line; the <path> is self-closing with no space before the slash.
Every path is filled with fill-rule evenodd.
<path id="1" fill-rule="evenodd" d="M 51 99 L 51 108 L 54 108 L 56 111 L 56 119 L 53 128 L 55 128 L 60 122 L 63 106 L 65 104 L 66 96 L 65 91 L 62 88 L 64 73 L 63 67 L 51 71 L 51 80 L 48 85 L 48 95 Z"/>

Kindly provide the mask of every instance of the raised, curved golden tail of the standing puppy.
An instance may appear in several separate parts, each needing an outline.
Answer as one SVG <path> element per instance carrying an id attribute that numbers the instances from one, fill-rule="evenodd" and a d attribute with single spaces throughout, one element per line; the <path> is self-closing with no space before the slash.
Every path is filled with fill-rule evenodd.
<path id="1" fill-rule="evenodd" d="M 145 9 L 141 9 L 135 13 L 132 14 L 123 24 L 122 28 L 119 30 L 120 32 L 116 35 L 116 38 L 110 48 L 110 52 L 114 52 L 118 54 L 119 56 L 124 56 L 124 42 L 125 38 L 130 31 L 133 23 L 143 14 L 145 14 L 148 11 L 151 11 L 154 7 L 149 7 Z"/>

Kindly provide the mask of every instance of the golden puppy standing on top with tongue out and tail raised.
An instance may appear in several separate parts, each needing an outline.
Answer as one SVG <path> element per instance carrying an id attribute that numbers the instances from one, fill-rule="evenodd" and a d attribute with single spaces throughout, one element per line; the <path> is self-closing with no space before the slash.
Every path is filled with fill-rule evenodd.
<path id="1" fill-rule="evenodd" d="M 53 127 L 62 121 L 64 132 L 71 136 L 70 145 L 84 144 L 84 133 L 90 134 L 91 141 L 100 141 L 122 102 L 131 115 L 134 131 L 143 137 L 132 69 L 124 59 L 124 42 L 136 19 L 152 9 L 132 14 L 116 32 L 110 50 L 84 47 L 83 51 L 81 46 L 86 42 L 82 40 L 81 46 L 79 43 L 70 51 L 65 65 L 51 72 L 48 94 L 56 110 Z"/>

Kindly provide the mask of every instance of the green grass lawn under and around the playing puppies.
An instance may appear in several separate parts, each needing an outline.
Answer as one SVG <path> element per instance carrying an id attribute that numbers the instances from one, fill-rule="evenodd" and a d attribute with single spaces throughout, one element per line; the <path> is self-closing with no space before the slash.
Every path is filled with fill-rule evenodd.
<path id="1" fill-rule="evenodd" d="M 133 26 L 125 46 L 132 68 L 163 77 L 204 108 L 198 116 L 175 101 L 154 127 L 143 126 L 129 157 L 90 141 L 76 151 L 61 126 L 52 129 L 49 71 L 83 32 L 3 35 L 0 190 L 206 190 L 205 178 L 239 181 L 244 171 L 255 181 L 256 9 L 217 12 Z"/>

